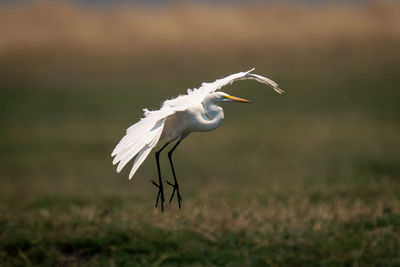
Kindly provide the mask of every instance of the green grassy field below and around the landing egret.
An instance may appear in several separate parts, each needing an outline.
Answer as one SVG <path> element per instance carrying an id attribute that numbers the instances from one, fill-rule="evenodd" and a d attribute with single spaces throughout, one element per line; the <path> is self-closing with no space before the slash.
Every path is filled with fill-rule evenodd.
<path id="1" fill-rule="evenodd" d="M 184 141 L 183 207 L 164 213 L 154 156 L 128 181 L 110 153 L 143 107 L 215 74 L 9 83 L 0 265 L 400 265 L 396 69 L 270 75 L 282 96 L 251 81 L 227 88 L 254 103 L 224 105 L 218 130 Z"/>

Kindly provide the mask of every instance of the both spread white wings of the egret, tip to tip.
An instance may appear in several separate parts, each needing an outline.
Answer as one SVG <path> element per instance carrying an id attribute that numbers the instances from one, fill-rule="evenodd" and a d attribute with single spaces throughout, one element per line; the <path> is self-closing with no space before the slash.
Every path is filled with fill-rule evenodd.
<path id="1" fill-rule="evenodd" d="M 279 94 L 284 92 L 278 88 L 276 82 L 261 75 L 250 73 L 253 70 L 254 68 L 249 71 L 232 74 L 212 83 L 203 83 L 197 89 L 188 89 L 186 95 L 180 95 L 177 98 L 164 101 L 159 110 L 148 111 L 144 109 L 144 118 L 126 130 L 125 136 L 111 153 L 112 157 L 115 156 L 113 164 L 115 165 L 119 162 L 117 172 L 120 172 L 132 158 L 136 157 L 129 173 L 129 179 L 131 179 L 151 150 L 157 145 L 168 116 L 177 111 L 186 110 L 195 103 L 201 103 L 205 96 L 226 85 L 239 80 L 256 80 L 269 85 Z"/>

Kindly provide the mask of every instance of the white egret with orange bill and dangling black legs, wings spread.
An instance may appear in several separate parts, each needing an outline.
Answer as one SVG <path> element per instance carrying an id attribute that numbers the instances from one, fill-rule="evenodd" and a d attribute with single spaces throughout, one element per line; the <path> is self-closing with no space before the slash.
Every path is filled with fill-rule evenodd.
<path id="1" fill-rule="evenodd" d="M 160 203 L 161 211 L 164 211 L 164 185 L 160 170 L 160 153 L 171 143 L 175 142 L 168 152 L 168 159 L 174 178 L 173 183 L 165 180 L 172 187 L 169 203 L 176 193 L 179 208 L 182 197 L 176 178 L 172 154 L 178 145 L 192 132 L 207 132 L 218 128 L 224 120 L 223 108 L 219 105 L 228 102 L 250 103 L 250 101 L 231 96 L 219 91 L 222 87 L 239 80 L 256 80 L 267 84 L 275 92 L 284 93 L 273 80 L 258 74 L 253 74 L 254 68 L 225 78 L 217 79 L 211 83 L 202 83 L 197 89 L 187 89 L 187 94 L 165 100 L 158 110 L 143 109 L 144 117 L 130 126 L 111 153 L 113 165 L 118 163 L 119 173 L 126 164 L 135 158 L 129 173 L 129 180 L 136 173 L 140 165 L 158 143 L 163 142 L 159 150 L 155 152 L 158 182 L 151 180 L 158 189 L 155 207 Z"/>

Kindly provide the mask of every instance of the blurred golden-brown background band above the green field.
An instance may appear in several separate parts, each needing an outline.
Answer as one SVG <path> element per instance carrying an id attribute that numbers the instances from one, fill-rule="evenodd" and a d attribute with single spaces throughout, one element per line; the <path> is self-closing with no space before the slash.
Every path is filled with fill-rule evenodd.
<path id="1" fill-rule="evenodd" d="M 0 34 L 0 75 L 6 80 L 226 69 L 223 75 L 267 66 L 273 66 L 268 72 L 317 65 L 315 70 L 391 68 L 400 61 L 392 52 L 400 45 L 400 5 L 190 2 L 87 8 L 39 1 L 3 6 Z"/>

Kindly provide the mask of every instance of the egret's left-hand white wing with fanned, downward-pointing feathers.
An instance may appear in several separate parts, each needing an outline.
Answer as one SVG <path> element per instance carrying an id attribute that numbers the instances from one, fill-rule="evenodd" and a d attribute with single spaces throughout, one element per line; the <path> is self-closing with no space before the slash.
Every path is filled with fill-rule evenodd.
<path id="1" fill-rule="evenodd" d="M 111 153 L 112 157 L 115 156 L 113 164 L 119 162 L 117 172 L 120 172 L 133 157 L 136 157 L 129 179 L 157 145 L 166 119 L 174 113 L 168 107 L 156 111 L 145 109 L 144 112 L 145 117 L 126 130 L 125 136 Z"/>

